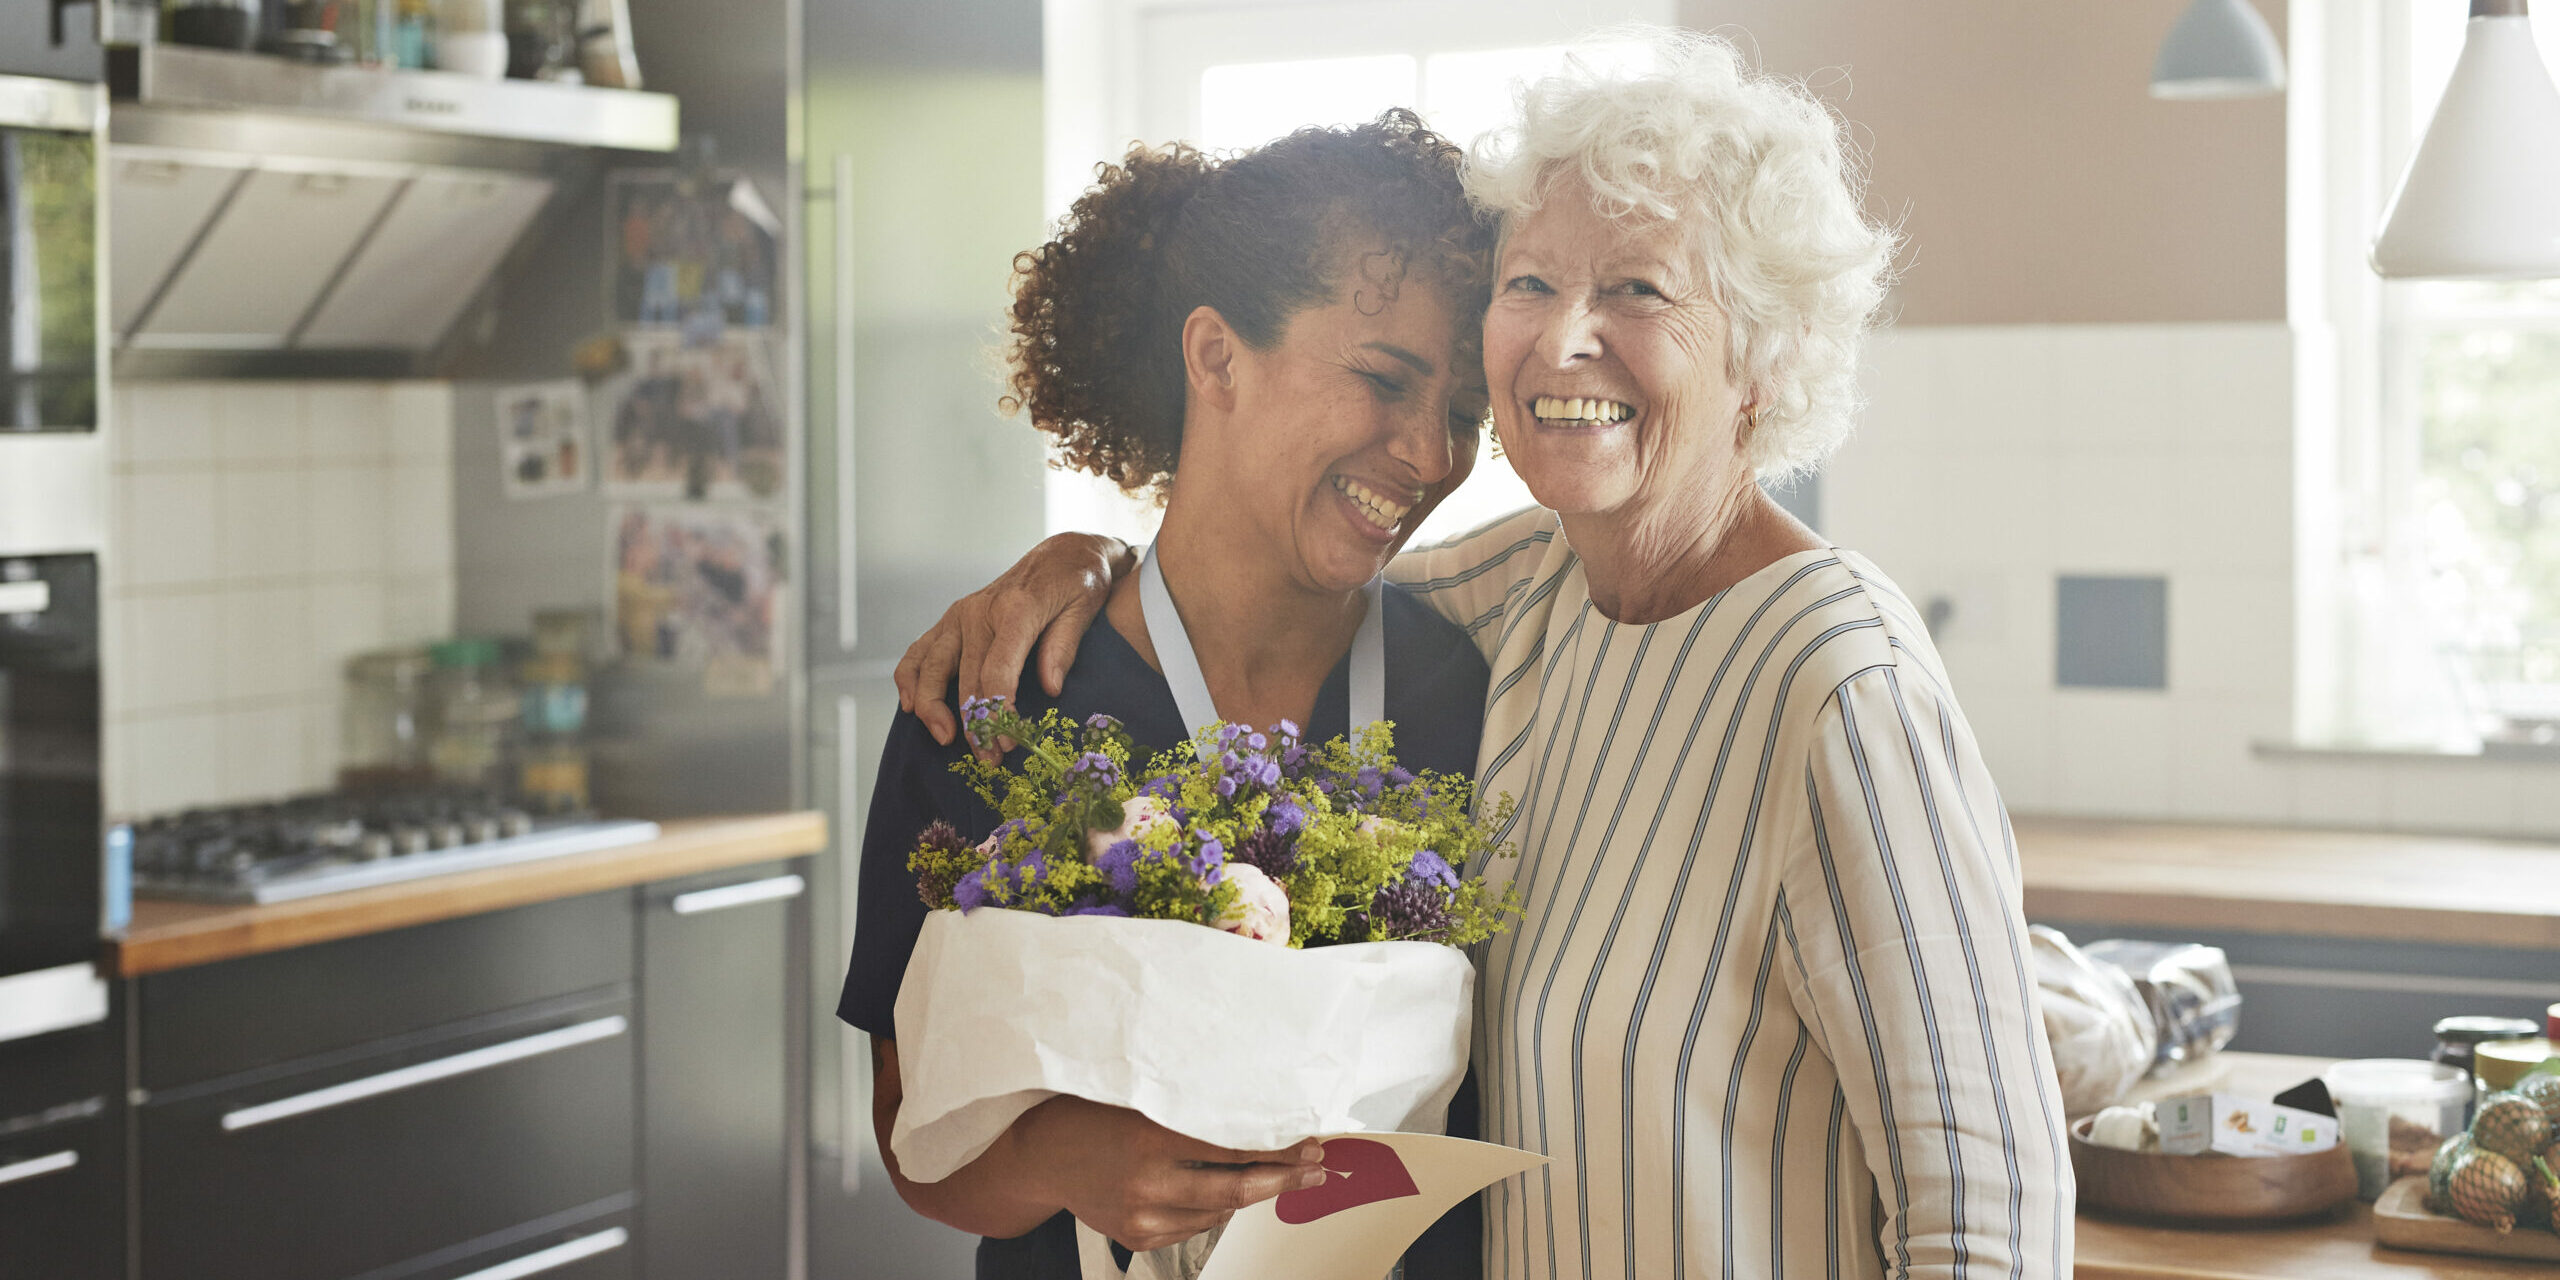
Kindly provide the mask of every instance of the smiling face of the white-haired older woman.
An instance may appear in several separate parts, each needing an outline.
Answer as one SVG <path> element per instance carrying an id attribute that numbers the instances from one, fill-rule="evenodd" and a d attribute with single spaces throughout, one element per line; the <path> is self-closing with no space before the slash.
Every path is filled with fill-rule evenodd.
<path id="1" fill-rule="evenodd" d="M 1562 184 L 1513 228 L 1485 312 L 1503 456 L 1541 507 L 1644 515 L 1725 494 L 1743 392 L 1679 228 L 1610 220 Z"/>

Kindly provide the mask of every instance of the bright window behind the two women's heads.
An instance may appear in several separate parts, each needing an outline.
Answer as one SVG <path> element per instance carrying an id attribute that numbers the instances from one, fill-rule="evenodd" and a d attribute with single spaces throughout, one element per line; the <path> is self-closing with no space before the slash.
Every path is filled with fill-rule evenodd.
<path id="1" fill-rule="evenodd" d="M 1672 23 L 1669 0 L 1050 0 L 1050 210 L 1126 138 L 1254 146 L 1300 125 L 1370 120 L 1411 105 L 1459 143 L 1510 118 L 1513 95 L 1567 41 L 1626 20 Z M 1065 31 L 1060 31 L 1065 28 Z M 1600 61 L 1641 46 L 1574 44 Z M 1075 61 L 1068 67 L 1068 61 Z M 1096 108 L 1101 102 L 1101 108 Z M 1062 123 L 1062 128 L 1060 128 Z M 1490 448 L 1411 545 L 1531 504 Z M 1052 530 L 1155 532 L 1155 509 L 1091 476 L 1052 471 Z"/>

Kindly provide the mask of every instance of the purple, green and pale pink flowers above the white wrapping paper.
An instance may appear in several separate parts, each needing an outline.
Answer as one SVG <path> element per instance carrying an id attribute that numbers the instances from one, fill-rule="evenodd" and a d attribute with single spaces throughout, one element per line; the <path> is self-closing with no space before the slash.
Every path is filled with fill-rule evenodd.
<path id="1" fill-rule="evenodd" d="M 1464 947 L 1518 914 L 1516 893 L 1457 873 L 1492 842 L 1467 817 L 1469 783 L 1398 768 L 1388 724 L 1316 748 L 1288 719 L 1219 724 L 1137 776 L 1111 717 L 1029 722 L 970 699 L 963 719 L 975 742 L 1029 753 L 1019 773 L 955 765 L 1006 822 L 978 845 L 924 832 L 906 865 L 927 906 L 1188 919 L 1288 947 Z"/>

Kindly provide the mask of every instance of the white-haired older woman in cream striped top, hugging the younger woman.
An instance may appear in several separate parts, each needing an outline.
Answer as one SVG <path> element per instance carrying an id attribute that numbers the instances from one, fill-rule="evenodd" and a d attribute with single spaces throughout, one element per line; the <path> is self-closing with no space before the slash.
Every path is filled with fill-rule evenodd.
<path id="1" fill-rule="evenodd" d="M 1477 154 L 1485 376 L 1544 509 L 1390 571 L 1485 650 L 1477 781 L 1518 801 L 1521 858 L 1469 868 L 1528 904 L 1475 1065 L 1485 1137 L 1551 1165 L 1492 1190 L 1487 1275 L 2068 1275 L 1999 791 L 1902 591 L 1756 484 L 1846 435 L 1892 236 L 1805 90 L 1654 54 Z M 1052 545 L 909 663 L 968 640 L 1001 691 L 1116 561 Z"/>

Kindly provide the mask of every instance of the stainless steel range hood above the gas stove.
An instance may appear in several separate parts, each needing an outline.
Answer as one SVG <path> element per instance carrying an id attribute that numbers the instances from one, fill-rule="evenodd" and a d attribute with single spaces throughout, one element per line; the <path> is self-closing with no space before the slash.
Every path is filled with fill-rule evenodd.
<path id="1" fill-rule="evenodd" d="M 676 100 L 632 90 L 172 46 L 118 51 L 110 90 L 125 374 L 428 369 L 553 195 L 676 148 Z"/>

